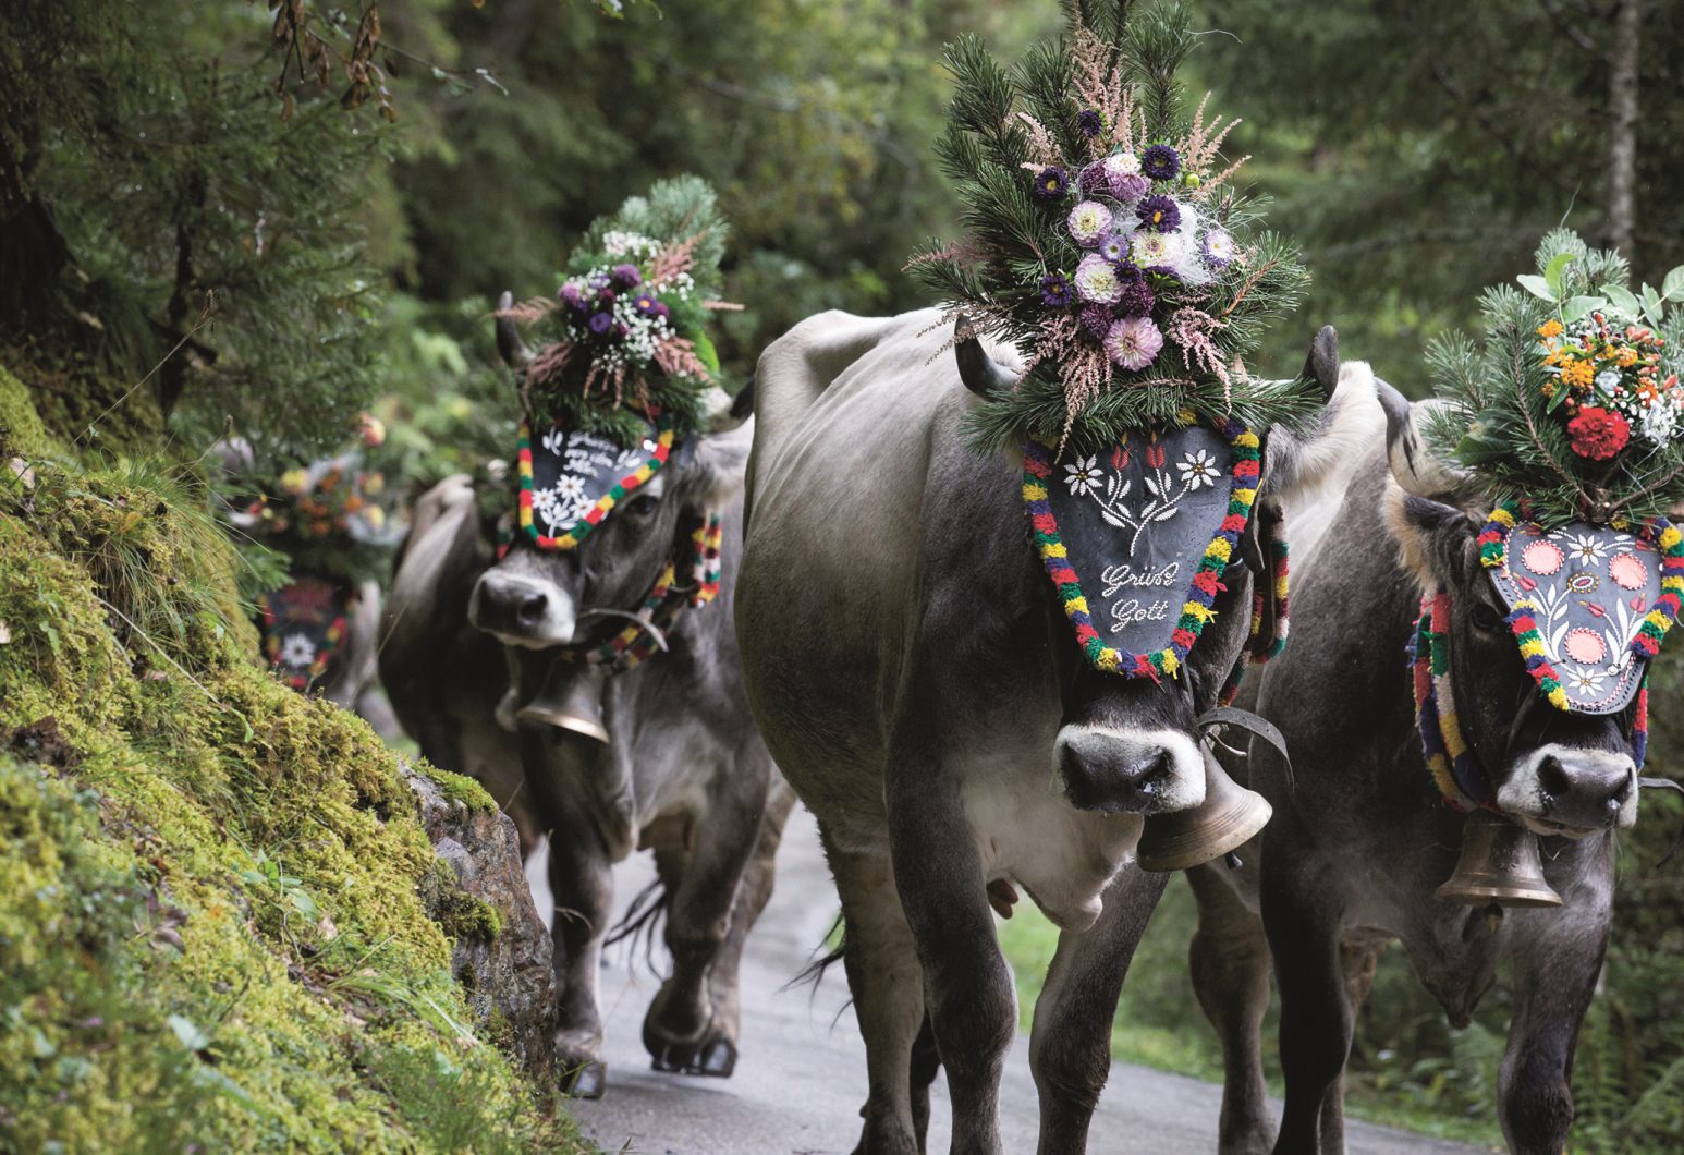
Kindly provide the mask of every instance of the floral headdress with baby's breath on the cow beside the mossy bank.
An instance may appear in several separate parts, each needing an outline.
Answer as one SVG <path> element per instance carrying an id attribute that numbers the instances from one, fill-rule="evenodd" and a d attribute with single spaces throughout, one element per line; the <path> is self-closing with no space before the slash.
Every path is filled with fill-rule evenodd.
<path id="1" fill-rule="evenodd" d="M 677 438 L 699 428 L 719 384 L 707 338 L 727 226 L 699 177 L 653 184 L 596 221 L 568 259 L 554 298 L 500 310 L 539 328 L 525 367 L 529 416 L 637 448 L 645 418 L 665 416 Z"/>

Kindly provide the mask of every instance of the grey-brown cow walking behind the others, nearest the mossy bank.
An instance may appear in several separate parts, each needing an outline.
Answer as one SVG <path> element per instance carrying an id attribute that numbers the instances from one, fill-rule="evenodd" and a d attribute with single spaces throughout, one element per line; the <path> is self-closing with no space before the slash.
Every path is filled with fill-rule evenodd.
<path id="1" fill-rule="evenodd" d="M 498 320 L 497 335 L 524 367 L 514 325 Z M 556 1042 L 576 1096 L 605 1088 L 611 867 L 638 849 L 655 854 L 672 956 L 643 1044 L 660 1071 L 727 1078 L 736 1066 L 738 960 L 793 806 L 754 731 L 731 628 L 751 439 L 753 418 L 727 414 L 568 552 L 517 535 L 498 561 L 473 487 L 446 478 L 416 507 L 387 598 L 381 675 L 404 729 L 434 764 L 487 783 L 525 850 L 549 838 Z M 663 652 L 620 673 L 569 660 L 642 609 L 711 512 L 724 527 L 716 601 L 682 611 L 658 631 Z M 552 709 L 551 679 L 584 697 L 593 734 Z"/>

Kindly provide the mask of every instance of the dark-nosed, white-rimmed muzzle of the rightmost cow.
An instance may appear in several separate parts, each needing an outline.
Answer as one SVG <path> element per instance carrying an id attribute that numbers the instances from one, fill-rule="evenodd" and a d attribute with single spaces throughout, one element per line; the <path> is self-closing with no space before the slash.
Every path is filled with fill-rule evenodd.
<path id="1" fill-rule="evenodd" d="M 1543 746 L 1516 764 L 1497 806 L 1541 835 L 1627 828 L 1637 822 L 1637 764 L 1625 753 Z"/>

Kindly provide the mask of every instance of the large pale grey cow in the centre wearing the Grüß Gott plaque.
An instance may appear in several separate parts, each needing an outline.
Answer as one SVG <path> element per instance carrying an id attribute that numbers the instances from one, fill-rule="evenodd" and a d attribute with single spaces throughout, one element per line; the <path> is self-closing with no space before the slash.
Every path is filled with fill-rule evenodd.
<path id="1" fill-rule="evenodd" d="M 1021 465 L 962 428 L 1015 354 L 963 338 L 938 357 L 941 317 L 822 313 L 761 355 L 738 640 L 842 899 L 869 1074 L 857 1150 L 923 1150 L 938 1066 L 951 1150 L 1000 1150 L 1017 1014 L 990 904 L 1021 887 L 1059 926 L 1031 1039 L 1041 1150 L 1076 1152 L 1167 877 L 1130 862 L 1142 815 L 1204 798 L 1194 722 L 1246 643 L 1251 578 L 1229 567 L 1179 677 L 1093 672 L 1031 546 Z M 1372 392 L 1315 377 L 1330 404 L 1314 436 L 1270 438 L 1268 500 L 1379 423 Z"/>

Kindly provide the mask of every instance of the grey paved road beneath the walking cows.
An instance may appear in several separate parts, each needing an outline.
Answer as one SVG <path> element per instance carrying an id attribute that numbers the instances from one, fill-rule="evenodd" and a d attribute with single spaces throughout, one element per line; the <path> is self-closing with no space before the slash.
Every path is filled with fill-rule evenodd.
<path id="1" fill-rule="evenodd" d="M 652 877 L 647 855 L 615 876 L 625 902 Z M 547 897 L 547 896 L 544 896 Z M 544 902 L 539 909 L 547 909 Z M 778 855 L 778 887 L 743 960 L 743 1056 L 731 1079 L 657 1074 L 638 1041 L 657 982 L 642 960 L 613 953 L 603 970 L 608 1019 L 608 1094 L 578 1103 L 584 1131 L 608 1152 L 645 1155 L 842 1155 L 859 1138 L 866 1049 L 847 1009 L 842 968 L 813 992 L 785 990 L 835 916 L 837 901 L 818 832 L 797 810 Z M 1093 1121 L 1093 1155 L 1209 1155 L 1216 1150 L 1221 1089 L 1145 1067 L 1116 1064 Z M 1278 1104 L 1276 1104 L 1278 1111 Z M 951 1115 L 946 1083 L 931 1094 L 930 1150 L 945 1152 Z M 1029 1037 L 1019 1034 L 1000 1089 L 1007 1152 L 1034 1152 L 1037 1108 Z M 1352 1123 L 1352 1155 L 1467 1155 L 1479 1148 Z"/>

